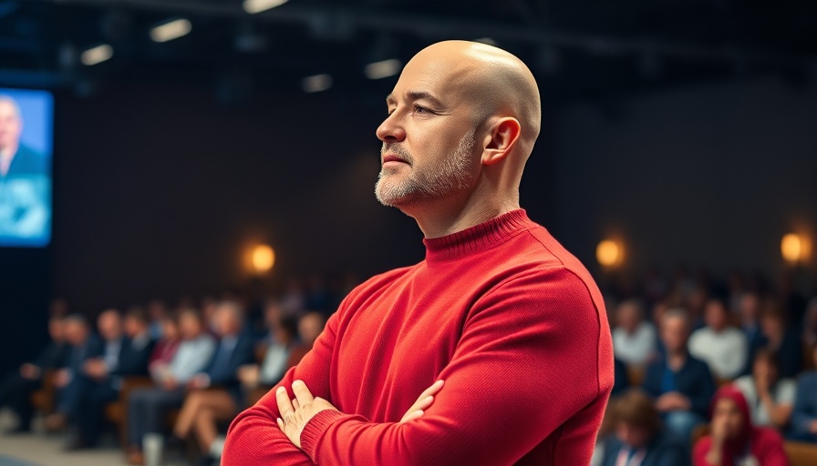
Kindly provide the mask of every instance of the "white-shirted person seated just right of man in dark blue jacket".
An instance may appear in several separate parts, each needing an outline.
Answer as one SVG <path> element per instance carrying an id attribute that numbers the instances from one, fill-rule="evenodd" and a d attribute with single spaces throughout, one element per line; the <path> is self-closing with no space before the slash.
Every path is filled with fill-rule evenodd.
<path id="1" fill-rule="evenodd" d="M 718 379 L 737 378 L 749 358 L 746 336 L 729 325 L 729 311 L 720 299 L 708 300 L 704 321 L 706 327 L 689 337 L 689 354 L 706 362 Z"/>

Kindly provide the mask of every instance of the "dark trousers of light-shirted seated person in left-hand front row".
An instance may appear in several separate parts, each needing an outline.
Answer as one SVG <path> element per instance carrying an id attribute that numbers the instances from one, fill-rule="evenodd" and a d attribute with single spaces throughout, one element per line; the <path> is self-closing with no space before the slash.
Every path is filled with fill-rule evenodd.
<path id="1" fill-rule="evenodd" d="M 178 409 L 184 401 L 185 390 L 143 389 L 130 392 L 128 401 L 128 442 L 142 446 L 147 433 L 162 433 L 165 417 L 170 410 Z"/>

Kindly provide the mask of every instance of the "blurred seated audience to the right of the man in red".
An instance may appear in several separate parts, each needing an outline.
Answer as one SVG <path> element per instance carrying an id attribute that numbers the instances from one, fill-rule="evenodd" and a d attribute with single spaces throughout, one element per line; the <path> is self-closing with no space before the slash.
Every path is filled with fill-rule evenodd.
<path id="1" fill-rule="evenodd" d="M 615 388 L 595 465 L 776 466 L 817 444 L 817 296 L 791 274 L 614 283 Z"/>

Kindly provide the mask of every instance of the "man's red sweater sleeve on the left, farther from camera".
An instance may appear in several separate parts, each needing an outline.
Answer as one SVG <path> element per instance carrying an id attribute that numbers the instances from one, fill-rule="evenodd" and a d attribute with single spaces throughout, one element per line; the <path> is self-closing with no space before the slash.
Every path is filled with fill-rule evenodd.
<path id="1" fill-rule="evenodd" d="M 314 462 L 295 447 L 295 444 L 278 428 L 275 420 L 279 416 L 275 401 L 275 390 L 286 387 L 289 397 L 292 382 L 304 380 L 315 397 L 329 400 L 329 361 L 335 346 L 338 322 L 336 312 L 326 322 L 326 329 L 315 340 L 313 349 L 294 368 L 287 370 L 284 379 L 248 410 L 244 410 L 233 420 L 227 432 L 227 441 L 222 452 L 222 465 L 243 466 L 247 464 L 275 464 L 278 466 L 313 465 Z"/>

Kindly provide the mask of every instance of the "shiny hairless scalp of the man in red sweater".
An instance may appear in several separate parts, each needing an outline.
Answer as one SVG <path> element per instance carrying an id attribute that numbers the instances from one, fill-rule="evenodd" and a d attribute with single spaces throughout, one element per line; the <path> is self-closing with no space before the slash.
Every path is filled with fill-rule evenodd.
<path id="1" fill-rule="evenodd" d="M 406 72 L 441 78 L 446 94 L 460 94 L 475 106 L 478 121 L 492 116 L 516 118 L 522 127 L 522 156 L 530 155 L 539 137 L 542 104 L 536 80 L 522 60 L 495 46 L 449 40 L 420 50 Z"/>

